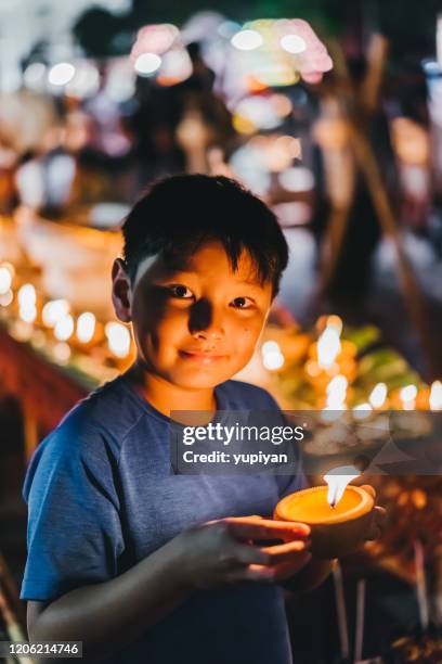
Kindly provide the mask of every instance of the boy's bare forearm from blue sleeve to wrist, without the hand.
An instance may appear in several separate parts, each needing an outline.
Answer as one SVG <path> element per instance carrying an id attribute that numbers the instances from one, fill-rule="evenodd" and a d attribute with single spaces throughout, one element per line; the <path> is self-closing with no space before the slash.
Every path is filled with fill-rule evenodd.
<path id="1" fill-rule="evenodd" d="M 100 662 L 135 640 L 191 591 L 172 541 L 110 580 L 52 601 L 28 624 L 29 640 L 82 641 L 84 662 Z"/>

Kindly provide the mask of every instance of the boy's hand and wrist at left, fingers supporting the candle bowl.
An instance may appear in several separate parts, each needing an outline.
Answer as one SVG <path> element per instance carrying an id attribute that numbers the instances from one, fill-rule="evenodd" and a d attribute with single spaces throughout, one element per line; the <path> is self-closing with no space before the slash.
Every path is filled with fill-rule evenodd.
<path id="1" fill-rule="evenodd" d="M 261 516 L 232 516 L 191 527 L 174 539 L 184 585 L 210 588 L 240 580 L 272 582 L 294 575 L 311 553 L 309 526 Z M 284 539 L 259 547 L 253 540 Z M 287 567 L 289 566 L 289 574 Z"/>

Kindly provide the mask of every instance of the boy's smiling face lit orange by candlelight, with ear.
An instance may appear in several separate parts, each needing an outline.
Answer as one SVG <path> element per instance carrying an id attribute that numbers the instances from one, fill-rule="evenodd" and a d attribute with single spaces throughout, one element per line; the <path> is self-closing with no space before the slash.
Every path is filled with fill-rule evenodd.
<path id="1" fill-rule="evenodd" d="M 144 259 L 132 288 L 117 259 L 113 280 L 115 310 L 132 321 L 139 358 L 188 388 L 213 387 L 247 365 L 272 301 L 272 284 L 259 284 L 249 254 L 233 272 L 217 241 L 173 271 L 158 256 Z"/>

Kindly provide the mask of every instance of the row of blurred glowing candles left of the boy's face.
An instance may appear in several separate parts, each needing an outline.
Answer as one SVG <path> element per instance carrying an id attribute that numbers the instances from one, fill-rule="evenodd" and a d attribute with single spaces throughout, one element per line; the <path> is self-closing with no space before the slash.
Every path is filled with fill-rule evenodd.
<path id="1" fill-rule="evenodd" d="M 10 263 L 0 264 L 0 310 L 15 314 L 11 332 L 21 341 L 32 340 L 44 345 L 46 332 L 51 334 L 54 359 L 64 363 L 70 357 L 70 345 L 84 352 L 106 342 L 116 360 L 127 358 L 132 348 L 129 328 L 118 321 L 100 322 L 91 311 L 77 316 L 67 299 L 43 302 L 32 283 L 23 283 L 14 291 L 15 269 Z"/>

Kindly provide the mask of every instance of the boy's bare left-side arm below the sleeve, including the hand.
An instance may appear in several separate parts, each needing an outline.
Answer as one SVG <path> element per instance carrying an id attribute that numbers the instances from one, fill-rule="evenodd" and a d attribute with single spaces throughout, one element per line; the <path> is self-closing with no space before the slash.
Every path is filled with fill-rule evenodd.
<path id="1" fill-rule="evenodd" d="M 272 556 L 265 548 L 245 544 L 250 539 L 273 540 L 280 535 L 297 537 L 282 554 Z M 100 662 L 135 640 L 193 589 L 244 580 L 272 583 L 272 566 L 287 553 L 295 572 L 306 561 L 306 552 L 299 547 L 306 537 L 302 524 L 286 525 L 255 516 L 192 526 L 123 574 L 76 588 L 52 601 L 29 624 L 29 639 L 83 641 L 84 662 Z"/>

